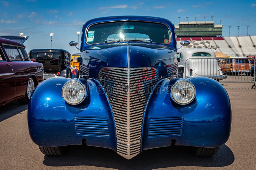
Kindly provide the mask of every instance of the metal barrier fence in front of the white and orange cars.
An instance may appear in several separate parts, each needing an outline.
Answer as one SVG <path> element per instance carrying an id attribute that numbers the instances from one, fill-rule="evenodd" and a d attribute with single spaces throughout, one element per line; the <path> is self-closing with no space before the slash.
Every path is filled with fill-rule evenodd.
<path id="1" fill-rule="evenodd" d="M 185 61 L 183 78 L 209 77 L 220 82 L 254 82 L 253 58 L 190 58 Z M 179 69 L 180 71 L 180 69 Z"/>

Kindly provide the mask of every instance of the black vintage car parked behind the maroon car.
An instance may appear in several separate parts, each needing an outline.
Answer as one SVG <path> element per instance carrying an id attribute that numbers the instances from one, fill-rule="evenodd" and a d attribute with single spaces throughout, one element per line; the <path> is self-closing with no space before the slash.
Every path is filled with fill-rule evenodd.
<path id="1" fill-rule="evenodd" d="M 71 54 L 62 49 L 33 49 L 29 57 L 44 65 L 44 79 L 53 77 L 71 78 Z"/>

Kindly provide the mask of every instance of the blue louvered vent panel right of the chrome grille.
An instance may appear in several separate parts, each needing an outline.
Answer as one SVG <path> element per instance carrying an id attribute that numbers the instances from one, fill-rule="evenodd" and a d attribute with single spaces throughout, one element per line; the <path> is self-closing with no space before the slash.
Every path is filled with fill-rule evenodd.
<path id="1" fill-rule="evenodd" d="M 150 118 L 148 125 L 149 137 L 180 136 L 183 117 Z"/>

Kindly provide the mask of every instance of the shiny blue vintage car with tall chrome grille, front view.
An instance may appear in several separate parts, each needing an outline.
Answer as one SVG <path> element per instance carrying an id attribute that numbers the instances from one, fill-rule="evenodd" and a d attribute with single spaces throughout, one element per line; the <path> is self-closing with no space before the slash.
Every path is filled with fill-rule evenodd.
<path id="1" fill-rule="evenodd" d="M 228 94 L 210 78 L 177 78 L 176 51 L 167 19 L 89 20 L 83 25 L 80 78 L 46 80 L 31 96 L 31 139 L 46 155 L 82 144 L 110 148 L 126 159 L 171 145 L 214 155 L 230 134 Z M 157 63 L 167 67 L 161 78 Z"/>

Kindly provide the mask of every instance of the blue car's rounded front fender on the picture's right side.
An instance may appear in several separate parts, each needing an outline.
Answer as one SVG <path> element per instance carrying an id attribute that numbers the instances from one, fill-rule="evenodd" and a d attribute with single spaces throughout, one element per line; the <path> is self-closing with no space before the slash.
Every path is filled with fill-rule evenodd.
<path id="1" fill-rule="evenodd" d="M 186 80 L 194 84 L 196 97 L 185 106 L 170 99 L 170 79 L 162 79 L 154 89 L 144 114 L 143 150 L 170 146 L 171 140 L 197 147 L 217 147 L 228 140 L 231 105 L 226 90 L 210 78 Z"/>

